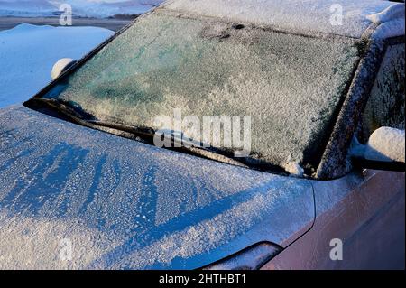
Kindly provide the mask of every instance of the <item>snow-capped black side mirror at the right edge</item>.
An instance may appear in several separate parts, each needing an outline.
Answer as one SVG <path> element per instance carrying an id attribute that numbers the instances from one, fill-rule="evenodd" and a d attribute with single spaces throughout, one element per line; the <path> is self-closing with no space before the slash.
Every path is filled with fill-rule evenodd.
<path id="1" fill-rule="evenodd" d="M 381 127 L 374 131 L 365 145 L 355 139 L 350 155 L 355 164 L 363 168 L 404 172 L 404 130 Z"/>

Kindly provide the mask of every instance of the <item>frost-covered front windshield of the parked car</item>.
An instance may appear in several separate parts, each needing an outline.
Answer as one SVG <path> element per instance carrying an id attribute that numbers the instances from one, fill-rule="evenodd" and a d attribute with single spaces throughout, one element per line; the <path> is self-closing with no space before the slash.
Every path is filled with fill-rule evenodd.
<path id="1" fill-rule="evenodd" d="M 161 128 L 157 117 L 174 111 L 199 119 L 250 116 L 251 158 L 309 166 L 323 152 L 357 55 L 354 41 L 341 37 L 158 10 L 45 98 L 73 102 L 100 120 L 154 129 Z"/>

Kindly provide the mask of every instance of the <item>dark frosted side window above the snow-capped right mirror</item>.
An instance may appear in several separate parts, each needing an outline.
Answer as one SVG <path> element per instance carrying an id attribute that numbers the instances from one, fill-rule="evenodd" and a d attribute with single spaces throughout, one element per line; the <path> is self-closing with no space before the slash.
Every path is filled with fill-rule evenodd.
<path id="1" fill-rule="evenodd" d="M 404 65 L 404 43 L 389 46 L 365 107 L 364 141 L 382 126 L 404 130 Z"/>

